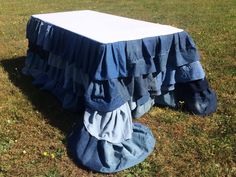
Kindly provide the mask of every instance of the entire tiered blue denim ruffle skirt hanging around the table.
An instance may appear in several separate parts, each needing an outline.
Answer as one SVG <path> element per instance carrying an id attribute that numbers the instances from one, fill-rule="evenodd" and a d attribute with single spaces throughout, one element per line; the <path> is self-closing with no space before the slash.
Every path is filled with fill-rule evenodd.
<path id="1" fill-rule="evenodd" d="M 215 111 L 216 96 L 199 84 L 207 82 L 205 73 L 185 31 L 103 44 L 31 17 L 27 38 L 23 73 L 56 95 L 64 108 L 85 110 L 68 148 L 91 170 L 120 171 L 152 152 L 152 133 L 132 118 L 155 103 L 178 107 L 183 100 L 195 114 Z M 181 93 L 185 87 L 191 97 Z"/>

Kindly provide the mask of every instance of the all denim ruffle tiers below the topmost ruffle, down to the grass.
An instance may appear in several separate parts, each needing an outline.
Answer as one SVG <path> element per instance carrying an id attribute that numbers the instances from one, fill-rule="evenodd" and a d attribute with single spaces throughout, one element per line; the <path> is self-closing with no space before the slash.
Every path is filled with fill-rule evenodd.
<path id="1" fill-rule="evenodd" d="M 25 63 L 23 73 L 34 78 L 33 84 L 51 91 L 65 109 L 85 111 L 83 124 L 68 138 L 69 151 L 77 163 L 103 173 L 136 165 L 153 151 L 151 131 L 133 124 L 132 118 L 154 104 L 178 107 L 184 100 L 188 110 L 199 115 L 216 108 L 199 61 L 159 74 L 94 82 L 54 54 L 42 58 L 29 50 Z"/>

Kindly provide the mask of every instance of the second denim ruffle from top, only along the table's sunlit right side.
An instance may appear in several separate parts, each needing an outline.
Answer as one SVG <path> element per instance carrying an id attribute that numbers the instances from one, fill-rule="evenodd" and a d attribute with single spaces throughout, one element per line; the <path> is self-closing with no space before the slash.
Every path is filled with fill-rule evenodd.
<path id="1" fill-rule="evenodd" d="M 178 67 L 176 70 L 167 70 L 156 74 L 147 74 L 140 77 L 112 79 L 103 82 L 91 82 L 90 86 L 98 92 L 86 92 L 87 105 L 93 109 L 112 111 L 130 100 L 143 105 L 150 96 L 160 95 L 163 91 L 174 90 L 176 82 L 189 82 L 205 77 L 199 61 Z M 94 85 L 93 85 L 94 84 Z M 99 85 L 98 85 L 99 84 Z M 97 86 L 97 87 L 96 87 Z"/>

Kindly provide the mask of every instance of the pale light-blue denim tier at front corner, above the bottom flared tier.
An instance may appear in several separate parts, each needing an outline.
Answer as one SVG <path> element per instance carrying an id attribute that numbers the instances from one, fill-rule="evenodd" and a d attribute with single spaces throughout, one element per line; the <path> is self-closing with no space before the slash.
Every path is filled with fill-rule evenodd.
<path id="1" fill-rule="evenodd" d="M 86 109 L 84 113 L 86 130 L 99 140 L 121 143 L 132 137 L 132 116 L 128 103 L 112 112 L 98 112 Z"/>

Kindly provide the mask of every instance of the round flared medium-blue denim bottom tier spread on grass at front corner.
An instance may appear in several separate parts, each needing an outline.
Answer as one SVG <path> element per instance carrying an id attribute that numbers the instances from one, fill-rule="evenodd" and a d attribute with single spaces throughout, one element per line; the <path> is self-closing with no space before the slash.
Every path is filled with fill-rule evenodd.
<path id="1" fill-rule="evenodd" d="M 90 170 L 113 173 L 142 162 L 154 149 L 151 131 L 140 123 L 133 124 L 132 138 L 112 144 L 91 136 L 83 126 L 77 126 L 68 136 L 68 151 L 72 158 Z"/>

